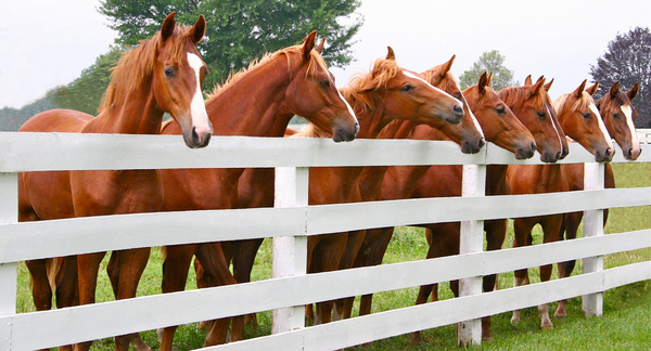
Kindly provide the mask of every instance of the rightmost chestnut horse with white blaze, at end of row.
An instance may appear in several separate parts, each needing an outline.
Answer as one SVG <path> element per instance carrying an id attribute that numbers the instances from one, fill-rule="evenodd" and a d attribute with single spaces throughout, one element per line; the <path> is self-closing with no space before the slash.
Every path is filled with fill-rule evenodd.
<path id="1" fill-rule="evenodd" d="M 637 112 L 633 108 L 630 101 L 637 95 L 639 86 L 636 83 L 629 91 L 620 91 L 620 82 L 615 82 L 611 88 L 610 92 L 602 99 L 597 100 L 595 103 L 608 133 L 620 144 L 624 153 L 624 158 L 628 160 L 636 160 L 640 156 L 640 143 L 635 131 L 635 119 L 637 118 Z M 583 164 L 565 164 L 562 165 L 563 173 L 567 179 L 567 185 L 570 191 L 582 191 L 584 190 L 584 165 Z M 605 165 L 605 184 L 607 188 L 615 187 L 615 178 L 613 169 L 610 164 Z M 566 213 L 563 226 L 559 233 L 559 239 L 567 238 L 572 239 L 576 237 L 578 231 L 578 224 L 583 219 L 583 212 L 571 212 Z M 603 212 L 603 224 L 608 219 L 608 209 Z M 566 233 L 566 234 L 565 234 Z M 558 263 L 559 277 L 566 277 L 574 271 L 576 261 L 566 261 Z M 567 315 L 565 307 L 567 300 L 559 301 L 554 317 L 564 317 Z"/>

